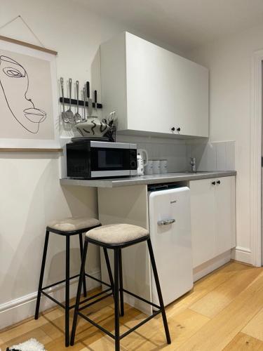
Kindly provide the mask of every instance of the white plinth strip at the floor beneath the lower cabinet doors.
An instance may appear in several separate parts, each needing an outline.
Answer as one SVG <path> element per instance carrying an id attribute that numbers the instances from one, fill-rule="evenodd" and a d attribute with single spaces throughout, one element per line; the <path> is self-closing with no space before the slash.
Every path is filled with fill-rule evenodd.
<path id="1" fill-rule="evenodd" d="M 194 282 L 196 282 L 196 280 L 198 279 L 205 277 L 205 275 L 209 274 L 210 272 L 213 272 L 213 270 L 217 270 L 217 268 L 221 267 L 222 265 L 225 265 L 230 260 L 231 251 L 229 250 L 213 258 L 212 260 L 203 263 L 202 265 L 198 265 L 198 267 L 195 267 L 193 270 Z"/>

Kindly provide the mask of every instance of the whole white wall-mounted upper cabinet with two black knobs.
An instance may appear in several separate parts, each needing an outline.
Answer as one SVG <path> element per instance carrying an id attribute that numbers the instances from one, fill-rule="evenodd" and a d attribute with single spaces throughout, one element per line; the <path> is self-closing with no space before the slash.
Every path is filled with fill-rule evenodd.
<path id="1" fill-rule="evenodd" d="M 100 57 L 102 114 L 119 131 L 208 137 L 208 69 L 127 32 Z"/>

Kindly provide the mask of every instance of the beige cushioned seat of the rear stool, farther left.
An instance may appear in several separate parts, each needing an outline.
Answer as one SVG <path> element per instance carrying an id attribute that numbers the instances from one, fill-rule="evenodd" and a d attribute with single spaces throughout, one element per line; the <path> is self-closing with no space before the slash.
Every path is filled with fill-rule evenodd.
<path id="1" fill-rule="evenodd" d="M 74 230 L 82 230 L 100 225 L 100 220 L 90 217 L 69 217 L 61 220 L 52 220 L 48 223 L 48 227 L 61 232 L 73 232 Z"/>

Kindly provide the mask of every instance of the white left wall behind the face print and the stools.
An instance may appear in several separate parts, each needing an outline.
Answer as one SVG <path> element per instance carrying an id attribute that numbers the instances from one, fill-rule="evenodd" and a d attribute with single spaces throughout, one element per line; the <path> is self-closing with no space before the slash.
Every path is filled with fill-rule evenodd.
<path id="1" fill-rule="evenodd" d="M 79 79 L 81 85 L 90 79 L 90 64 L 100 43 L 122 30 L 71 0 L 1 0 L 0 26 L 17 15 L 22 15 L 47 48 L 58 51 L 58 77 Z M 20 20 L 1 29 L 0 34 L 39 45 Z M 34 312 L 48 220 L 97 216 L 97 191 L 61 187 L 59 154 L 1 152 L 0 168 L 1 329 Z M 72 273 L 79 270 L 78 244 L 74 239 Z M 46 282 L 56 282 L 65 273 L 65 240 L 51 235 L 50 248 Z M 99 254 L 94 248 L 88 263 L 92 274 L 100 274 Z"/>

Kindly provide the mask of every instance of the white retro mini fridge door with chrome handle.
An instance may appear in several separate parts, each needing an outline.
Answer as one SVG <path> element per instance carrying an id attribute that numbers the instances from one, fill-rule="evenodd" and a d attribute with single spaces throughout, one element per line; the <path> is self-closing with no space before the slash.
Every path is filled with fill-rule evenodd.
<path id="1" fill-rule="evenodd" d="M 149 192 L 149 229 L 164 305 L 193 287 L 190 220 L 188 187 Z M 159 305 L 152 272 L 151 282 L 152 301 Z"/>

